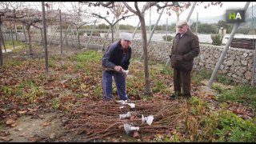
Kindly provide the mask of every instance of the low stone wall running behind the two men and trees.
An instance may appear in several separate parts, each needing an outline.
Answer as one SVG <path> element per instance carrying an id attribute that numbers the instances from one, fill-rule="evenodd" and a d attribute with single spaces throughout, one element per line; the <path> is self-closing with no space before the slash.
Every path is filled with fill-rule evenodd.
<path id="1" fill-rule="evenodd" d="M 10 38 L 10 34 L 4 35 L 5 39 Z M 51 44 L 59 45 L 59 37 L 50 37 L 48 36 L 47 42 Z M 77 46 L 76 42 L 77 38 L 68 37 L 67 45 L 68 46 Z M 18 40 L 25 41 L 24 35 L 19 34 Z M 81 36 L 80 42 L 82 48 L 86 48 L 89 37 Z M 114 39 L 117 41 L 118 39 Z M 32 37 L 32 41 L 41 42 L 41 36 L 34 34 Z M 88 44 L 88 49 L 101 50 L 102 46 L 105 42 L 105 47 L 110 45 L 111 38 L 108 38 L 106 41 L 104 38 L 92 37 L 90 38 L 90 42 Z M 62 43 L 64 46 L 66 45 L 66 41 Z M 166 62 L 170 55 L 170 46 L 171 42 L 150 42 L 148 47 L 148 56 L 149 59 Z M 134 39 L 132 44 L 133 55 L 140 57 L 142 54 L 142 41 Z M 214 66 L 218 62 L 218 58 L 222 54 L 222 50 L 224 46 L 213 46 L 200 44 L 200 54 L 197 58 L 194 59 L 194 64 L 196 69 L 206 69 L 206 70 L 214 70 Z M 254 50 L 244 50 L 238 48 L 230 48 L 227 51 L 226 57 L 222 66 L 218 70 L 219 74 L 226 74 L 228 77 L 234 79 L 235 82 L 246 82 L 250 83 L 252 78 L 252 69 L 253 69 L 253 58 L 254 58 Z M 255 78 L 256 79 L 256 78 Z"/>

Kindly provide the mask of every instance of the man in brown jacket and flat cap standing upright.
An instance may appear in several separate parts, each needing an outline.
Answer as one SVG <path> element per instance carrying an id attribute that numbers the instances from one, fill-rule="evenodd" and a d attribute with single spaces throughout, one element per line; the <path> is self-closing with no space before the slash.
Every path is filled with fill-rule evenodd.
<path id="1" fill-rule="evenodd" d="M 186 20 L 179 21 L 176 26 L 178 34 L 175 35 L 170 54 L 171 66 L 174 68 L 174 94 L 169 99 L 178 96 L 191 98 L 191 71 L 194 58 L 200 52 L 198 36 L 192 33 Z"/>

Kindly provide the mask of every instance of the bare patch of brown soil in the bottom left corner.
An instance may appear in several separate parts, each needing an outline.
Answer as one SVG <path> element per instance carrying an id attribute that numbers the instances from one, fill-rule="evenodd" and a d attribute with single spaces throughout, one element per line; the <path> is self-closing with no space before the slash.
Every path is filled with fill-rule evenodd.
<path id="1" fill-rule="evenodd" d="M 63 133 L 62 122 L 56 113 L 44 114 L 41 118 L 23 116 L 18 125 L 8 129 L 10 142 L 37 142 L 45 139 L 53 141 Z"/>

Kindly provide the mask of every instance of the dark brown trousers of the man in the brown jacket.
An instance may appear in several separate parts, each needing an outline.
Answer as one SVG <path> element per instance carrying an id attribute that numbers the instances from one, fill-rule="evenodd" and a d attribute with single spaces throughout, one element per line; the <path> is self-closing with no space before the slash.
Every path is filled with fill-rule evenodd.
<path id="1" fill-rule="evenodd" d="M 175 93 L 183 94 L 184 96 L 191 96 L 190 94 L 191 77 L 190 76 L 191 76 L 191 71 L 182 71 L 182 70 L 174 69 L 174 92 Z"/>

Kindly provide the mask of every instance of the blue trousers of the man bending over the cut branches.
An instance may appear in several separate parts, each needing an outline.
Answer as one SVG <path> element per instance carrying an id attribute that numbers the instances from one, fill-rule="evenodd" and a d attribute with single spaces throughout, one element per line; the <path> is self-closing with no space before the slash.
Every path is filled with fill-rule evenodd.
<path id="1" fill-rule="evenodd" d="M 121 100 L 126 100 L 126 78 L 122 73 L 116 71 L 103 71 L 102 84 L 103 84 L 103 95 L 105 100 L 113 100 L 112 92 L 112 77 L 114 77 L 115 85 L 117 86 L 118 96 Z"/>

